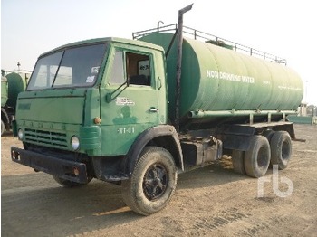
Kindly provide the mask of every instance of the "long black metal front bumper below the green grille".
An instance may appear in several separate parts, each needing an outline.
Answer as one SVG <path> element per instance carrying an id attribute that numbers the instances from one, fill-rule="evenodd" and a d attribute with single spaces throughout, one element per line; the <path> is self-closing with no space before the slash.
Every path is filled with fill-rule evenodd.
<path id="1" fill-rule="evenodd" d="M 11 159 L 18 164 L 32 167 L 35 171 L 43 171 L 76 183 L 88 182 L 87 167 L 84 163 L 63 160 L 17 147 L 11 147 Z"/>

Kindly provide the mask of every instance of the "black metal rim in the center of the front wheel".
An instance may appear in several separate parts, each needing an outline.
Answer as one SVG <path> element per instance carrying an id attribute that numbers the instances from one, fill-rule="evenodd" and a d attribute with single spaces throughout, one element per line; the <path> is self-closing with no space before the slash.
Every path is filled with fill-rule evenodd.
<path id="1" fill-rule="evenodd" d="M 143 193 L 149 201 L 155 201 L 162 196 L 168 185 L 168 171 L 160 165 L 149 166 L 143 178 Z"/>

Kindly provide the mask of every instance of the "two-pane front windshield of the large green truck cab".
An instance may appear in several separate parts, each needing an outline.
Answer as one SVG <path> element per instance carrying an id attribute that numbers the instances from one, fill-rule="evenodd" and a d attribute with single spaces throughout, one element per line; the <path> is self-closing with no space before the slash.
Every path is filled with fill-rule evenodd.
<path id="1" fill-rule="evenodd" d="M 106 44 L 66 49 L 40 58 L 27 90 L 90 87 L 97 80 Z"/>

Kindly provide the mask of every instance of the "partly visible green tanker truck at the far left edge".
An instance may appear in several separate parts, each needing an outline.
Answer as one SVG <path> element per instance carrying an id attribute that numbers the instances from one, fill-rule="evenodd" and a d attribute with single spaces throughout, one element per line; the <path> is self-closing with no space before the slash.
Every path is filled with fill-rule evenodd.
<path id="1" fill-rule="evenodd" d="M 11 129 L 11 122 L 15 115 L 17 96 L 24 91 L 30 72 L 10 72 L 5 75 L 1 70 L 1 136 L 5 130 Z"/>

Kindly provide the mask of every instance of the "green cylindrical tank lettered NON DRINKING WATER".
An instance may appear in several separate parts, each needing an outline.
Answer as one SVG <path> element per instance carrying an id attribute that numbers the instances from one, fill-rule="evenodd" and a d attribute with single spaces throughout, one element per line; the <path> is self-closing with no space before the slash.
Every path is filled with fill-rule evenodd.
<path id="1" fill-rule="evenodd" d="M 151 33 L 142 41 L 165 50 L 170 33 Z M 169 111 L 174 111 L 176 45 L 167 59 Z M 184 39 L 181 77 L 182 117 L 195 110 L 293 110 L 303 98 L 303 82 L 290 68 L 212 43 Z"/>

